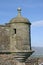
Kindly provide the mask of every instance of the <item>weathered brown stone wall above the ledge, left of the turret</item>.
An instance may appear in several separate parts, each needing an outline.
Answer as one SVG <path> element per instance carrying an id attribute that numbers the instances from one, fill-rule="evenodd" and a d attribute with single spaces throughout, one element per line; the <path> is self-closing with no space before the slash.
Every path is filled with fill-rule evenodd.
<path id="1" fill-rule="evenodd" d="M 0 27 L 0 52 L 9 50 L 9 44 L 9 29 L 6 27 Z"/>

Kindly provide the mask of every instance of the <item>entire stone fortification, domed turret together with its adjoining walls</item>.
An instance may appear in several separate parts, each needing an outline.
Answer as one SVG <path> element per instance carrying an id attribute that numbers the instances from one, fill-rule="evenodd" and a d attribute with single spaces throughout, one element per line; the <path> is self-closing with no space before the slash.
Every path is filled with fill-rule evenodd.
<path id="1" fill-rule="evenodd" d="M 0 25 L 0 65 L 25 65 L 33 53 L 30 25 L 30 21 L 21 16 L 20 8 L 17 17 Z"/>

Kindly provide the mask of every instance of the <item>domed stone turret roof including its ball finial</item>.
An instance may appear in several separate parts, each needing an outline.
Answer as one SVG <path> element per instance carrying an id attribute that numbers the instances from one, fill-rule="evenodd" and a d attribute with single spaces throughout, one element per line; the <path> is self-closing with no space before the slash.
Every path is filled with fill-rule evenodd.
<path id="1" fill-rule="evenodd" d="M 21 8 L 17 9 L 18 11 L 18 15 L 15 18 L 12 18 L 10 20 L 10 23 L 28 23 L 31 24 L 30 21 L 27 18 L 24 18 L 23 16 L 21 16 Z"/>

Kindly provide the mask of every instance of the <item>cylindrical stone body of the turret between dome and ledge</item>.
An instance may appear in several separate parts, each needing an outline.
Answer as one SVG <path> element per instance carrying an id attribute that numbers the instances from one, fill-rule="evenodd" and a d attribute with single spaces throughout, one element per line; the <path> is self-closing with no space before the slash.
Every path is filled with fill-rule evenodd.
<path id="1" fill-rule="evenodd" d="M 30 50 L 30 26 L 25 23 L 15 23 L 11 24 L 11 48 L 17 50 Z M 16 29 L 16 34 L 14 34 L 14 29 Z M 15 50 L 14 50 L 15 51 Z"/>

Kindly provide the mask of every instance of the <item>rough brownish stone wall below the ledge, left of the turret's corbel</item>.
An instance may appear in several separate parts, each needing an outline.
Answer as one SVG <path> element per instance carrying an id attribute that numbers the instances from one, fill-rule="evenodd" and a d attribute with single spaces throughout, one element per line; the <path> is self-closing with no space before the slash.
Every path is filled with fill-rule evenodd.
<path id="1" fill-rule="evenodd" d="M 16 61 L 11 54 L 0 54 L 0 65 L 16 65 Z"/>

